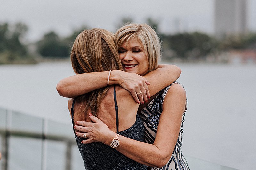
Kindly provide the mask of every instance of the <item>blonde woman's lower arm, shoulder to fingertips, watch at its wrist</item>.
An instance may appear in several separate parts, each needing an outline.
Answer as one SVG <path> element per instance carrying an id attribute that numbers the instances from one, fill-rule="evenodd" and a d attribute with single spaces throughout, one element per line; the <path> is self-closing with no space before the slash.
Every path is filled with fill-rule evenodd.
<path id="1" fill-rule="evenodd" d="M 162 167 L 170 159 L 174 146 L 180 131 L 182 114 L 185 110 L 186 93 L 182 86 L 173 84 L 167 92 L 163 111 L 159 120 L 156 139 L 153 144 L 143 143 L 130 138 L 120 136 L 120 146 L 116 148 L 125 156 L 148 166 Z M 86 136 L 89 139 L 82 141 L 84 144 L 91 143 L 94 140 L 103 142 L 109 145 L 115 132 L 112 132 L 108 127 L 96 117 L 90 116 L 95 122 L 76 122 L 76 129 L 87 132 Z M 82 126 L 78 126 L 82 125 Z M 78 132 L 81 136 L 84 133 Z"/>

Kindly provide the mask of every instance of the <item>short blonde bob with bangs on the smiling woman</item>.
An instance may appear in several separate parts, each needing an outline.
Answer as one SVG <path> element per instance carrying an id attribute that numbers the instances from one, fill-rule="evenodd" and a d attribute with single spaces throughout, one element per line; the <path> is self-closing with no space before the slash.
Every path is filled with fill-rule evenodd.
<path id="1" fill-rule="evenodd" d="M 119 28 L 114 35 L 117 49 L 124 42 L 128 43 L 134 38 L 140 41 L 148 54 L 148 72 L 155 70 L 161 58 L 161 46 L 158 35 L 147 24 L 128 23 Z"/>

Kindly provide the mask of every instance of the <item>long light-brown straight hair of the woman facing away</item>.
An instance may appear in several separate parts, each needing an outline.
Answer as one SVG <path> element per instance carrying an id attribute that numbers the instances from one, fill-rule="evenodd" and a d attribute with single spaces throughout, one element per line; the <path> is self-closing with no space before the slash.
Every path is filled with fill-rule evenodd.
<path id="1" fill-rule="evenodd" d="M 113 33 L 104 29 L 94 28 L 81 32 L 73 44 L 70 58 L 76 74 L 123 70 L 113 41 Z M 82 108 L 79 118 L 84 118 L 84 112 L 89 108 L 97 117 L 100 103 L 108 89 L 107 86 L 76 97 Z"/>

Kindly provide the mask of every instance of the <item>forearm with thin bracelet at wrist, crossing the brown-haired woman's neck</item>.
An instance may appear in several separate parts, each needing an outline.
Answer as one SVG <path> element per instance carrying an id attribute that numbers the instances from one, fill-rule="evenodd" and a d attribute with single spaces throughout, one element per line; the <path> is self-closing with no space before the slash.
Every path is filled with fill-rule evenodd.
<path id="1" fill-rule="evenodd" d="M 111 71 L 109 85 L 118 84 L 118 72 Z M 109 71 L 77 74 L 60 80 L 57 91 L 60 96 L 73 98 L 107 86 Z"/>

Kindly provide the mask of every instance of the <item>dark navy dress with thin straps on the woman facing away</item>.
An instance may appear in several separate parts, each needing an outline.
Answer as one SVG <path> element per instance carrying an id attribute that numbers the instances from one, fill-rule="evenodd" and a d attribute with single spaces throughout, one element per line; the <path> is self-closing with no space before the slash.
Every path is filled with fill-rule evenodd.
<path id="1" fill-rule="evenodd" d="M 132 127 L 118 132 L 118 107 L 116 103 L 116 90 L 114 86 L 114 101 L 115 101 L 115 110 L 116 110 L 116 129 L 117 133 L 125 136 L 127 138 L 131 138 L 134 140 L 144 141 L 144 126 L 140 116 L 136 115 L 136 121 L 132 125 Z M 75 99 L 71 108 L 72 115 L 72 123 L 74 126 L 74 104 Z M 74 130 L 74 128 L 73 128 Z M 75 130 L 74 130 L 75 133 Z M 84 138 L 79 138 L 76 136 L 76 143 L 78 149 L 81 153 L 81 156 L 84 160 L 84 167 L 86 170 L 146 170 L 147 167 L 142 165 L 134 160 L 124 156 L 116 149 L 105 145 L 100 142 L 93 142 L 90 144 L 82 144 L 82 140 Z"/>

